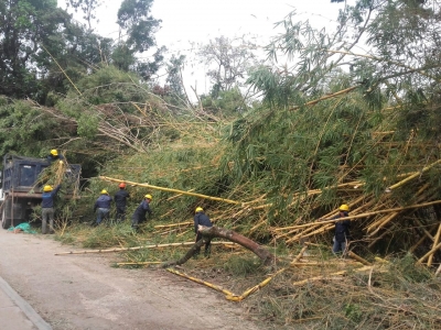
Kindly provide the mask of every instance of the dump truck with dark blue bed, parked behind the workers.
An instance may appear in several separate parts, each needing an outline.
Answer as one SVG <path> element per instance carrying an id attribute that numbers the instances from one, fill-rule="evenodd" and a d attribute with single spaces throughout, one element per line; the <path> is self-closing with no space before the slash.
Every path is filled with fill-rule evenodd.
<path id="1" fill-rule="evenodd" d="M 32 210 L 42 201 L 43 189 L 39 183 L 41 174 L 51 166 L 43 158 L 31 158 L 7 154 L 3 156 L 0 190 L 1 227 L 8 229 L 30 220 Z M 63 190 L 74 189 L 78 183 L 80 165 L 67 165 L 63 178 Z M 66 191 L 72 197 L 74 191 Z"/>

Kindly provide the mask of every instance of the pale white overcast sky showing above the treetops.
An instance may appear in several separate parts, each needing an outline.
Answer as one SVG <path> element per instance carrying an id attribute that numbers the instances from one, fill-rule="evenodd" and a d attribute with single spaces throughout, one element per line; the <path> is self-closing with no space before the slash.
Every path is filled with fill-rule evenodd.
<path id="1" fill-rule="evenodd" d="M 103 36 L 118 36 L 115 24 L 120 0 L 104 1 L 98 9 L 96 31 Z M 65 8 L 65 0 L 58 0 Z M 331 0 L 155 0 L 151 14 L 162 20 L 155 34 L 157 44 L 166 46 L 169 53 L 185 54 L 189 58 L 184 79 L 198 92 L 206 92 L 209 84 L 204 78 L 206 68 L 197 64 L 189 52 L 190 42 L 207 43 L 216 36 L 248 35 L 265 46 L 278 34 L 275 23 L 295 10 L 301 19 L 310 20 L 316 28 L 333 29 L 343 3 Z"/>

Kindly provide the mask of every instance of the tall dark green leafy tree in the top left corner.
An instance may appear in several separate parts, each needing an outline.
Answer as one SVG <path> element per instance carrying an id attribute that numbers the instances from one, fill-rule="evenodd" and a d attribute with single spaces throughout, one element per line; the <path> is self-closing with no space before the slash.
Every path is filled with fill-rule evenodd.
<path id="1" fill-rule="evenodd" d="M 68 19 L 55 0 L 0 3 L 0 95 L 32 98 L 39 92 L 44 46 Z"/>

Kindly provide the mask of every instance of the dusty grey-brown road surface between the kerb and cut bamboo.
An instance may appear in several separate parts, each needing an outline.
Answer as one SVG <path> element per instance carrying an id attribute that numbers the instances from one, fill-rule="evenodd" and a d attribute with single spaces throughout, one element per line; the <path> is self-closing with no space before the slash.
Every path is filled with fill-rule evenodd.
<path id="1" fill-rule="evenodd" d="M 237 302 L 165 271 L 111 267 L 111 254 L 72 251 L 0 230 L 0 276 L 55 330 L 258 329 Z"/>

